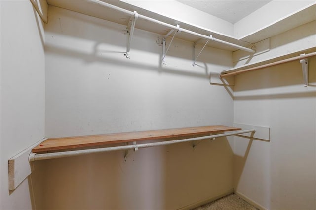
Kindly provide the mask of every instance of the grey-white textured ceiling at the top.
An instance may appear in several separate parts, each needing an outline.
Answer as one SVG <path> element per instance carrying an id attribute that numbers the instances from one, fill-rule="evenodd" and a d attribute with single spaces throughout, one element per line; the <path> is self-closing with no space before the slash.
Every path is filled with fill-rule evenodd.
<path id="1" fill-rule="evenodd" d="M 231 23 L 236 23 L 271 0 L 177 0 Z"/>

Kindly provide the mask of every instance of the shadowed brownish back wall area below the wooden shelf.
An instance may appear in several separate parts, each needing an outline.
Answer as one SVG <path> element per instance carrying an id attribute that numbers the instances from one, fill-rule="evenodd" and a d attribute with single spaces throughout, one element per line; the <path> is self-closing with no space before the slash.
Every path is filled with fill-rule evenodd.
<path id="1" fill-rule="evenodd" d="M 226 138 L 35 162 L 33 209 L 178 209 L 232 189 Z"/>

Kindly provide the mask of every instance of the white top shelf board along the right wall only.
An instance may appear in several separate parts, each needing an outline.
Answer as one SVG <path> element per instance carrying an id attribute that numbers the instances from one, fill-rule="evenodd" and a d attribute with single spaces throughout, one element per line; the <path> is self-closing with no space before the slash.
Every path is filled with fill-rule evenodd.
<path id="1" fill-rule="evenodd" d="M 316 2 L 238 39 L 256 43 L 316 20 Z"/>

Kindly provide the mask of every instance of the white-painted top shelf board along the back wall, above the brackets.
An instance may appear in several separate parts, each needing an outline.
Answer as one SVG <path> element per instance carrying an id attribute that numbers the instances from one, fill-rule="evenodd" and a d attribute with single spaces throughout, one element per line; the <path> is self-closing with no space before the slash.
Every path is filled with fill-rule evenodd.
<path id="1" fill-rule="evenodd" d="M 72 0 L 47 0 L 49 5 L 53 5 L 53 6 L 57 6 L 60 8 L 64 8 L 64 9 L 68 9 L 71 11 L 75 11 L 75 12 L 79 12 L 81 14 L 85 14 L 85 15 L 89 15 L 92 17 L 96 17 L 96 18 L 100 18 L 103 20 L 107 20 L 107 21 L 111 21 L 114 23 L 118 23 L 118 24 L 122 24 L 124 26 L 127 25 L 130 16 L 124 14 L 124 13 L 120 13 L 118 11 L 114 11 L 112 9 L 108 9 L 108 8 L 101 8 L 98 5 L 92 4 L 88 1 L 72 1 Z M 162 16 L 159 15 L 157 13 L 153 13 L 150 12 L 148 10 L 142 9 L 142 8 L 138 8 L 136 6 L 127 4 L 125 2 L 122 1 L 105 1 L 106 3 L 110 3 L 114 6 L 118 6 L 120 8 L 129 10 L 129 11 L 137 11 L 137 13 L 145 15 L 147 17 L 151 17 L 154 19 L 157 19 L 159 21 L 171 24 L 176 26 L 177 24 L 180 25 L 181 28 L 190 30 L 190 31 L 194 31 L 197 32 L 199 34 L 203 34 L 203 35 L 213 35 L 214 38 L 223 40 L 223 41 L 227 41 L 230 43 L 234 43 L 240 46 L 248 46 L 250 43 L 242 41 L 242 40 L 238 40 L 230 35 L 224 35 L 222 33 L 213 31 L 211 29 L 206 29 L 197 25 L 193 25 L 187 22 L 183 22 L 180 20 L 176 20 L 170 17 L 166 17 L 166 16 Z M 161 36 L 166 35 L 170 29 L 158 24 L 154 24 L 154 23 L 150 23 L 149 21 L 145 21 L 142 19 L 137 19 L 136 24 L 135 24 L 135 28 L 136 29 L 140 29 L 140 30 L 144 30 L 144 31 L 149 31 L 149 32 L 153 32 L 156 34 L 160 34 Z M 172 36 L 172 35 L 171 35 Z M 171 37 L 170 37 L 171 38 Z M 175 38 L 178 39 L 182 39 L 182 40 L 186 40 L 189 42 L 195 42 L 197 41 L 199 38 L 195 35 L 189 35 L 187 33 L 181 32 L 181 33 L 177 33 L 177 35 L 175 36 Z M 204 44 L 205 42 L 200 41 L 199 44 Z M 219 49 L 223 49 L 223 50 L 228 50 L 228 51 L 236 51 L 237 49 L 235 47 L 231 47 L 222 43 L 218 43 L 215 41 L 209 41 L 207 46 L 210 47 L 214 47 L 214 48 L 219 48 Z"/>

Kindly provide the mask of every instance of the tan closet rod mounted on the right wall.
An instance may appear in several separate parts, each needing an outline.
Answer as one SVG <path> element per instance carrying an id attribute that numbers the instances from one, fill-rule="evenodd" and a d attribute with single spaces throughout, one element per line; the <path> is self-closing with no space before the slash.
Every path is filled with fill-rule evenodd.
<path id="1" fill-rule="evenodd" d="M 244 73 L 244 72 L 247 72 L 247 71 L 263 69 L 263 68 L 266 68 L 266 67 L 271 67 L 271 66 L 275 66 L 275 65 L 278 65 L 278 64 L 283 64 L 283 63 L 290 62 L 290 61 L 295 61 L 295 60 L 308 58 L 308 57 L 311 57 L 311 56 L 314 56 L 314 55 L 316 55 L 316 52 L 308 53 L 308 54 L 305 54 L 305 55 L 295 56 L 295 57 L 292 57 L 292 58 L 287 58 L 287 59 L 284 59 L 284 60 L 272 62 L 270 64 L 263 64 L 263 65 L 260 65 L 260 66 L 257 66 L 257 67 L 252 67 L 252 68 L 248 68 L 248 69 L 245 69 L 245 70 L 239 70 L 239 71 L 226 73 L 226 74 L 223 72 L 224 74 L 220 75 L 220 77 L 224 78 L 224 77 L 227 77 L 227 76 L 234 76 L 234 75 L 241 74 L 241 73 Z"/>

